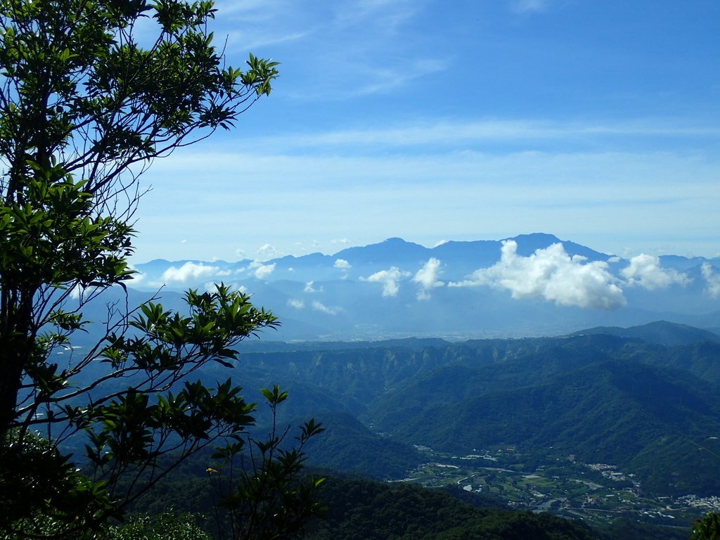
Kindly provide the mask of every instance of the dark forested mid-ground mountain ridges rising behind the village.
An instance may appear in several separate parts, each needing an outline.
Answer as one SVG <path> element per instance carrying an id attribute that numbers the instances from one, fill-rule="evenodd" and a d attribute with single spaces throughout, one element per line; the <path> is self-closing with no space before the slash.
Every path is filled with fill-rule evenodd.
<path id="1" fill-rule="evenodd" d="M 614 464 L 656 495 L 716 495 L 719 359 L 720 336 L 658 322 L 462 342 L 249 341 L 233 377 L 289 390 L 280 422 L 325 424 L 308 447 L 320 467 L 397 479 L 418 465 L 417 446 L 510 444 Z M 216 380 L 215 369 L 199 375 Z"/>

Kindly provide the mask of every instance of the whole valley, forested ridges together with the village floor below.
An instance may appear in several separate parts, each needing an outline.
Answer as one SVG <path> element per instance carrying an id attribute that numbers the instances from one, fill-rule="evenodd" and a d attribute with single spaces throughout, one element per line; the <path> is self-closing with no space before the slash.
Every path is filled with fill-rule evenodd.
<path id="1" fill-rule="evenodd" d="M 289 392 L 279 425 L 322 423 L 306 465 L 340 482 L 411 498 L 403 487 L 431 487 L 480 510 L 570 518 L 603 540 L 684 540 L 696 518 L 720 511 L 719 359 L 716 333 L 656 322 L 458 342 L 253 340 L 231 373 L 251 402 L 273 384 Z M 212 385 L 227 369 L 197 376 Z M 251 433 L 264 437 L 273 418 L 260 405 L 256 419 Z M 178 490 L 206 468 L 188 469 Z M 392 496 L 360 491 L 350 507 Z"/>

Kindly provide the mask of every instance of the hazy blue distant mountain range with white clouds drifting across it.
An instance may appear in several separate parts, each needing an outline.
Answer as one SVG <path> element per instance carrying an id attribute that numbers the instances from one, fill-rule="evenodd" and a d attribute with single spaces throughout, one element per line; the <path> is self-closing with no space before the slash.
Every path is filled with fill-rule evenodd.
<path id="1" fill-rule="evenodd" d="M 169 306 L 190 287 L 240 287 L 280 318 L 272 338 L 284 340 L 539 336 L 656 320 L 720 328 L 720 259 L 625 259 L 543 233 L 135 266 L 130 287 L 163 287 Z"/>

